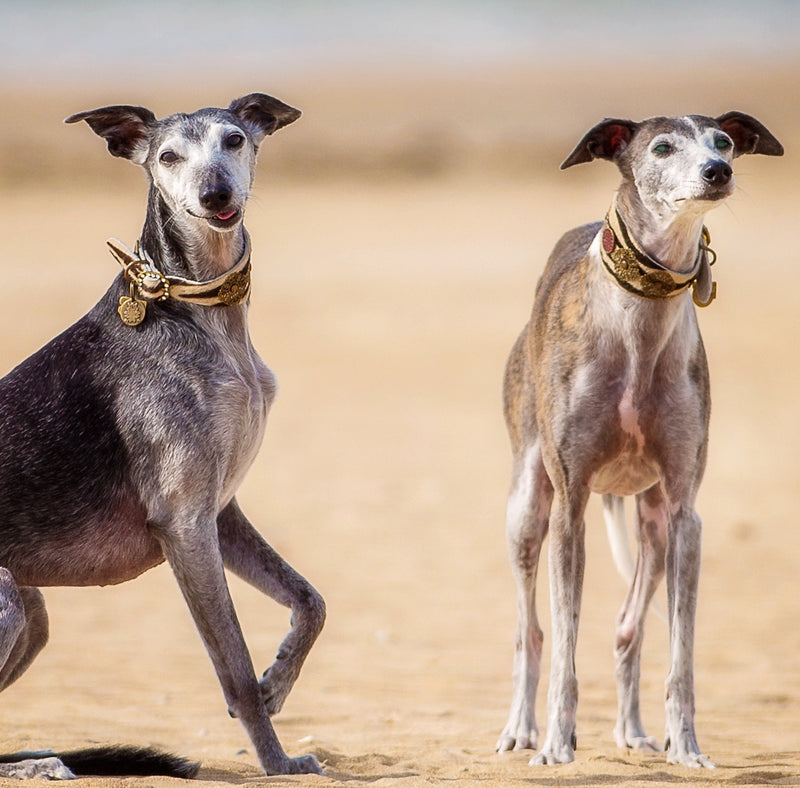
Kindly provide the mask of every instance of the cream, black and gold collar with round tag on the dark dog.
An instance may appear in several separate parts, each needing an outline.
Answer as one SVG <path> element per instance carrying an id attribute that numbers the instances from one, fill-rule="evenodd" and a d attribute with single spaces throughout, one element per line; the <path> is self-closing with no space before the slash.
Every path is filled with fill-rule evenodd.
<path id="1" fill-rule="evenodd" d="M 130 294 L 119 300 L 117 312 L 127 326 L 144 320 L 148 301 L 187 301 L 202 306 L 235 306 L 250 294 L 250 236 L 244 231 L 244 251 L 229 271 L 207 282 L 196 282 L 159 271 L 139 241 L 131 251 L 116 238 L 107 241 L 111 254 L 123 268 Z"/>

